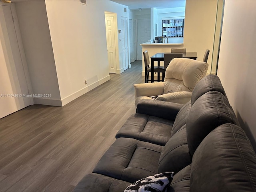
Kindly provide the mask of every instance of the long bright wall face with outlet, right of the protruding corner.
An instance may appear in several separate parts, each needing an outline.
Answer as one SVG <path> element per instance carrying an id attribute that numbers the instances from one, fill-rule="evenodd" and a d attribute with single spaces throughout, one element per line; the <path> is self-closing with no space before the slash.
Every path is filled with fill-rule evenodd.
<path id="1" fill-rule="evenodd" d="M 118 29 L 120 17 L 128 18 L 128 12 L 124 13 L 126 6 L 105 0 L 88 0 L 87 6 L 75 0 L 45 3 L 60 96 L 66 104 L 110 79 L 104 11 L 117 13 Z M 123 68 L 120 55 L 117 68 Z"/>

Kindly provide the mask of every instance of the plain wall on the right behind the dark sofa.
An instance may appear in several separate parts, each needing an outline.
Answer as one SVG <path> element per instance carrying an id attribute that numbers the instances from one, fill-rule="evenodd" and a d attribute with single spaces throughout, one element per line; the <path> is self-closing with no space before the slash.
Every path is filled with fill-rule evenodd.
<path id="1" fill-rule="evenodd" d="M 254 150 L 256 150 L 255 10 L 255 0 L 225 0 L 217 73 L 230 105 L 234 108 L 240 125 L 250 137 Z"/>

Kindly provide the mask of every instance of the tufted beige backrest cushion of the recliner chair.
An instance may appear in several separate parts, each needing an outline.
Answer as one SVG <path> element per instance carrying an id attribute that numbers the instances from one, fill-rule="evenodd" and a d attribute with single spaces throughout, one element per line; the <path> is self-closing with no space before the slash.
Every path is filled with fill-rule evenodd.
<path id="1" fill-rule="evenodd" d="M 192 91 L 206 75 L 207 69 L 207 63 L 188 58 L 174 58 L 166 68 L 164 94 Z"/>

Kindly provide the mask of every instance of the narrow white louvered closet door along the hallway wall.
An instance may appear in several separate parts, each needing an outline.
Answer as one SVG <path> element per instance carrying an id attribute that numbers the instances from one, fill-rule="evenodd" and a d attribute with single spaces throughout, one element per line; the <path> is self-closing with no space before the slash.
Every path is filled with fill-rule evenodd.
<path id="1" fill-rule="evenodd" d="M 128 52 L 128 25 L 127 25 L 127 17 L 121 17 L 121 24 L 122 24 L 122 61 L 124 70 L 128 69 L 129 65 L 129 52 Z"/>

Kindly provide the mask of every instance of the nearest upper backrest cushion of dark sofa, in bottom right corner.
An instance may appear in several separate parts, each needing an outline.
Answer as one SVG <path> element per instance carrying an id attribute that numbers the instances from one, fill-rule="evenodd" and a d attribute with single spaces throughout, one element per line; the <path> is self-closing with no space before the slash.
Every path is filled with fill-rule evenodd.
<path id="1" fill-rule="evenodd" d="M 242 128 L 223 124 L 198 146 L 190 175 L 197 191 L 256 192 L 256 155 Z"/>

